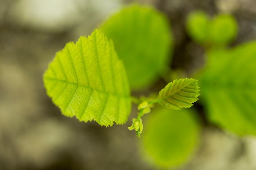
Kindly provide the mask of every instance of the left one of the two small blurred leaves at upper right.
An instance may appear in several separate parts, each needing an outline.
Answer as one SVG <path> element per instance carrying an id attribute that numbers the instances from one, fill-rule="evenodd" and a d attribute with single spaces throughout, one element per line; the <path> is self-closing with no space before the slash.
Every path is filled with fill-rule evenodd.
<path id="1" fill-rule="evenodd" d="M 210 18 L 203 11 L 194 11 L 189 14 L 186 29 L 191 38 L 203 44 L 208 40 Z"/>

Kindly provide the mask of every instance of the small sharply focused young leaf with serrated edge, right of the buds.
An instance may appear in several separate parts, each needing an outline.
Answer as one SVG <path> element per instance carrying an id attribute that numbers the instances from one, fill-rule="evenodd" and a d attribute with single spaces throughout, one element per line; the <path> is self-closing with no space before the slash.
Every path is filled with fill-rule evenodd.
<path id="1" fill-rule="evenodd" d="M 157 101 L 164 107 L 180 110 L 193 106 L 198 100 L 199 87 L 195 79 L 179 79 L 168 83 L 157 97 Z"/>

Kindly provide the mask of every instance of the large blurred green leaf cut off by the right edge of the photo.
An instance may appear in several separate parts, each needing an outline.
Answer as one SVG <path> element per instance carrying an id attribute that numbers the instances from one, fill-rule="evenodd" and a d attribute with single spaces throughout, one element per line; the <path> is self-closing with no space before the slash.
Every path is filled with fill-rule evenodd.
<path id="1" fill-rule="evenodd" d="M 209 119 L 238 135 L 256 135 L 256 42 L 207 57 L 197 78 Z"/>

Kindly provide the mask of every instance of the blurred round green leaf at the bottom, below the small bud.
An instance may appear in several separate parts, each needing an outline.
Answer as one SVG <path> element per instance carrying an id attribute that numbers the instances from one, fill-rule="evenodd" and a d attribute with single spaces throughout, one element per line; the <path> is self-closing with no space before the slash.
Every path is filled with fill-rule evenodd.
<path id="1" fill-rule="evenodd" d="M 186 163 L 194 154 L 200 137 L 193 109 L 155 108 L 148 116 L 141 135 L 142 157 L 162 168 Z"/>

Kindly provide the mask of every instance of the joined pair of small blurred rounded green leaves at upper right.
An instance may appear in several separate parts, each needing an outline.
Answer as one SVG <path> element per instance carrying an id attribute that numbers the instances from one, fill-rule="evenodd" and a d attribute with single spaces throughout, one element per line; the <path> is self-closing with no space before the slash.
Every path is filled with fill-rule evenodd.
<path id="1" fill-rule="evenodd" d="M 238 29 L 232 15 L 219 14 L 210 19 L 202 11 L 192 12 L 188 16 L 186 28 L 191 38 L 206 46 L 225 46 L 234 40 Z"/>

